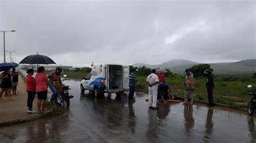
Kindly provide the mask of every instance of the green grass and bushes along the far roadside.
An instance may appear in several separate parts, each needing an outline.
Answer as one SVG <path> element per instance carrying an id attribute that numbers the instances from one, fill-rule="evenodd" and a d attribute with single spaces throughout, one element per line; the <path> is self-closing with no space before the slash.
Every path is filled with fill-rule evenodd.
<path id="1" fill-rule="evenodd" d="M 146 77 L 151 73 L 151 68 L 143 67 L 132 67 L 131 69 L 139 69 L 137 72 L 137 78 L 139 84 L 137 89 L 147 90 Z M 206 78 L 203 76 L 203 71 L 205 69 L 211 69 L 210 65 L 202 64 L 196 65 L 190 68 L 194 71 L 194 79 L 196 81 L 196 89 L 194 91 L 194 98 L 207 101 L 207 90 L 205 87 Z M 68 75 L 68 77 L 76 78 L 82 80 L 83 77 L 86 77 L 90 73 L 90 68 L 82 68 L 76 70 L 64 70 L 63 74 Z M 169 69 L 166 74 L 165 80 L 170 85 L 173 95 L 183 96 L 184 95 L 184 82 L 185 82 L 185 73 L 184 75 L 173 74 Z M 184 69 L 185 70 L 185 69 Z M 200 70 L 200 71 L 199 71 Z M 214 69 L 213 70 L 214 73 Z M 199 72 L 197 72 L 199 71 Z M 49 73 L 50 71 L 46 71 Z M 213 75 L 215 90 L 213 91 L 214 102 L 220 104 L 230 105 L 233 108 L 247 108 L 247 104 L 251 99 L 250 89 L 247 88 L 247 85 L 251 84 L 256 88 L 256 73 L 247 77 L 241 77 L 239 75 Z"/>

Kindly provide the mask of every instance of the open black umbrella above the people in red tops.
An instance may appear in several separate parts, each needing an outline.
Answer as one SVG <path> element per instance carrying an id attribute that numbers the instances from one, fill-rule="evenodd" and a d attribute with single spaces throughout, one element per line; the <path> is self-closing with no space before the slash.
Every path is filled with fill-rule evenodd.
<path id="1" fill-rule="evenodd" d="M 27 63 L 27 64 L 43 64 L 43 65 L 49 65 L 49 64 L 56 64 L 51 58 L 45 55 L 29 55 L 26 56 L 21 62 L 19 63 Z"/>

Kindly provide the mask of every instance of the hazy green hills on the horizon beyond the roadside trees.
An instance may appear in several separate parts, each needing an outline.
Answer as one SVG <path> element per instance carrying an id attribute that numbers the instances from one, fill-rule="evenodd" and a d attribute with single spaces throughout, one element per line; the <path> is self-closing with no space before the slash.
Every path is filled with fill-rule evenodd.
<path id="1" fill-rule="evenodd" d="M 159 65 L 145 65 L 150 68 L 169 68 L 173 73 L 184 74 L 186 68 L 200 63 L 187 60 L 171 60 Z M 209 63 L 214 74 L 253 74 L 256 73 L 256 59 L 238 62 Z M 142 66 L 142 65 L 140 65 Z"/>

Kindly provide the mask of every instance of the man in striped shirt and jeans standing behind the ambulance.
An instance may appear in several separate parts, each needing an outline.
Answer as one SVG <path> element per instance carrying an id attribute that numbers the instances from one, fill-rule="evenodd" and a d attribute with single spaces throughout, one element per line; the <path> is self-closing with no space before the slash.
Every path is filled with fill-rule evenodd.
<path id="1" fill-rule="evenodd" d="M 134 96 L 134 92 L 135 92 L 135 87 L 136 87 L 136 82 L 138 82 L 137 78 L 136 78 L 136 69 L 132 69 L 132 72 L 129 76 L 129 101 L 131 102 L 135 102 L 135 100 L 133 99 Z"/>

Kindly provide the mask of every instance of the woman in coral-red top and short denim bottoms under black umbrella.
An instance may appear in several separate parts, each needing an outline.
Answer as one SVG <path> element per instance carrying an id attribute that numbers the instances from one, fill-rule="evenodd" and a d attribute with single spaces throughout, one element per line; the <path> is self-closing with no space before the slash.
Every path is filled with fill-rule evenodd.
<path id="1" fill-rule="evenodd" d="M 36 80 L 36 92 L 37 92 L 37 109 L 38 113 L 45 112 L 45 104 L 47 99 L 47 91 L 48 91 L 48 85 L 49 80 L 47 75 L 44 73 L 45 68 L 39 67 L 37 68 L 37 75 L 35 77 Z"/>

